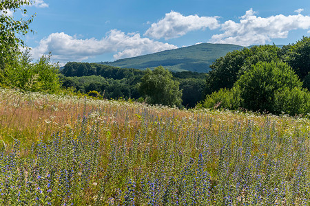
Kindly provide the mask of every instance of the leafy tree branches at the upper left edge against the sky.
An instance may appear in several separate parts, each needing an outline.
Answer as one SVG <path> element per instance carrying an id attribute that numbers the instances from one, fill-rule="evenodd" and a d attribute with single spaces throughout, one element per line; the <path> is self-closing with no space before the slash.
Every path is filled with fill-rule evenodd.
<path id="1" fill-rule="evenodd" d="M 12 58 L 19 53 L 19 46 L 23 47 L 25 45 L 19 36 L 32 32 L 29 24 L 34 17 L 30 16 L 28 20 L 14 20 L 9 12 L 14 13 L 17 10 L 21 10 L 23 14 L 26 14 L 27 10 L 21 9 L 21 6 L 29 4 L 29 0 L 0 1 L 0 69 L 2 73 L 5 65 L 10 63 Z"/>

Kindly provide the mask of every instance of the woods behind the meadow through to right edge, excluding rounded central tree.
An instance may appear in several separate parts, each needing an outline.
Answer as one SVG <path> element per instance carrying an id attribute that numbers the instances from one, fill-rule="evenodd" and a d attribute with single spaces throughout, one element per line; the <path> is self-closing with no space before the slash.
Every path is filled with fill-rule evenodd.
<path id="1" fill-rule="evenodd" d="M 306 115 L 310 113 L 309 55 L 310 38 L 304 36 L 282 47 L 259 45 L 228 52 L 210 65 L 208 73 L 172 72 L 171 78 L 179 82 L 182 92 L 182 106 L 177 106 Z M 96 63 L 68 62 L 60 77 L 63 87 L 81 93 L 97 91 L 107 99 L 141 100 L 139 85 L 145 73 Z"/>

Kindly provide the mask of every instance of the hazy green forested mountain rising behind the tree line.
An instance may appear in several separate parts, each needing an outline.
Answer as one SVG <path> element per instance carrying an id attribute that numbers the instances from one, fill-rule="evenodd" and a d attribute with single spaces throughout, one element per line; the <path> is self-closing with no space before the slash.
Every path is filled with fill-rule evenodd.
<path id="1" fill-rule="evenodd" d="M 154 54 L 124 58 L 114 62 L 99 62 L 99 64 L 134 69 L 152 69 L 161 65 L 165 69 L 169 69 L 169 71 L 207 73 L 210 70 L 209 65 L 217 58 L 225 56 L 227 52 L 243 48 L 238 45 L 201 43 Z"/>

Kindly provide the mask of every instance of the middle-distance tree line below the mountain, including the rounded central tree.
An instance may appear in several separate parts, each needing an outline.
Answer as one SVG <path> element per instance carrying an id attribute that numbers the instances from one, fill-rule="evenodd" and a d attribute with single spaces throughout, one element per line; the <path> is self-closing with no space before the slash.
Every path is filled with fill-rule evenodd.
<path id="1" fill-rule="evenodd" d="M 149 79 L 153 75 L 154 82 Z M 72 87 L 81 93 L 97 91 L 107 99 L 131 98 L 140 101 L 147 100 L 150 104 L 175 104 L 177 106 L 183 104 L 187 108 L 196 106 L 197 102 L 202 100 L 205 87 L 205 73 L 192 71 L 171 73 L 163 67 L 156 67 L 154 71 L 149 69 L 143 71 L 87 62 L 68 62 L 61 69 L 60 78 L 63 87 Z M 147 95 L 145 82 L 153 84 L 150 91 L 161 90 L 161 92 L 156 91 L 156 94 L 160 95 L 163 100 L 155 98 L 153 95 Z M 159 87 L 166 87 L 166 89 Z M 167 103 L 167 99 L 171 100 L 172 98 L 171 95 L 169 97 L 169 93 L 178 95 L 176 98 L 178 101 L 168 101 L 169 103 Z"/>

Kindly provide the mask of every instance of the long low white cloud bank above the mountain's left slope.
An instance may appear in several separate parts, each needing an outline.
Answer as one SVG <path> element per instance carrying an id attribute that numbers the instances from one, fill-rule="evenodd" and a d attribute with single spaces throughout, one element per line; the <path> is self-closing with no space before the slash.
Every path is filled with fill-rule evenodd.
<path id="1" fill-rule="evenodd" d="M 125 34 L 119 30 L 111 30 L 101 40 L 79 39 L 63 32 L 53 33 L 43 38 L 39 46 L 32 48 L 31 53 L 34 58 L 39 58 L 52 52 L 55 60 L 68 62 L 86 60 L 105 53 L 115 53 L 114 58 L 118 59 L 176 48 L 175 45 L 141 38 L 137 33 Z"/>

